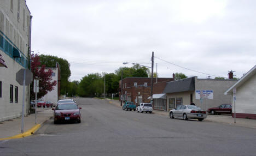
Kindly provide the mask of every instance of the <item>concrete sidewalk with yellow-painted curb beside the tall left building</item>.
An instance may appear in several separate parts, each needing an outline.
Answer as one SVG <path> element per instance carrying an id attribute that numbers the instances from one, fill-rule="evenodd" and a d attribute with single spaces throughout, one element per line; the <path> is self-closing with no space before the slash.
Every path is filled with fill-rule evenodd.
<path id="1" fill-rule="evenodd" d="M 0 122 L 0 140 L 31 135 L 52 116 L 53 111 L 51 109 L 37 108 L 37 124 L 35 124 L 34 114 L 24 117 L 24 134 L 21 134 L 21 117 Z"/>

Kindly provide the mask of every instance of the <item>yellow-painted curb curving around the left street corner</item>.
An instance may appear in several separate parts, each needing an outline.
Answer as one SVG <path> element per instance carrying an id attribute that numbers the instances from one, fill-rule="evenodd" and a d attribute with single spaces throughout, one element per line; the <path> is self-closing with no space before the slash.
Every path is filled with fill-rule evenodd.
<path id="1" fill-rule="evenodd" d="M 19 138 L 22 138 L 22 137 L 30 136 L 30 135 L 36 133 L 36 131 L 37 131 L 46 121 L 48 121 L 50 118 L 53 118 L 53 117 L 47 117 L 47 118 L 45 118 L 43 122 L 34 125 L 31 129 L 25 131 L 24 133 L 21 133 L 21 134 L 18 134 L 18 135 L 14 135 L 14 136 L 10 136 L 10 137 L 0 138 L 0 140 L 19 139 Z"/>

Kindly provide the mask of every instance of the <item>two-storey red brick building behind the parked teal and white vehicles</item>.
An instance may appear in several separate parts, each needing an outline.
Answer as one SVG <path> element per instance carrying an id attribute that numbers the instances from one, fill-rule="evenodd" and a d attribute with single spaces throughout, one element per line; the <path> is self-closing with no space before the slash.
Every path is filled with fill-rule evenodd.
<path id="1" fill-rule="evenodd" d="M 173 81 L 173 78 L 158 78 L 158 83 L 156 83 L 156 78 L 153 79 L 153 94 L 161 93 L 165 84 L 168 81 Z M 163 83 L 161 83 L 163 82 Z M 119 88 L 121 91 L 121 81 L 119 81 Z M 139 103 L 149 103 L 151 93 L 151 78 L 150 77 L 126 77 L 123 79 L 123 100 L 133 101 L 135 104 Z M 119 100 L 121 100 L 121 93 L 119 93 Z"/>

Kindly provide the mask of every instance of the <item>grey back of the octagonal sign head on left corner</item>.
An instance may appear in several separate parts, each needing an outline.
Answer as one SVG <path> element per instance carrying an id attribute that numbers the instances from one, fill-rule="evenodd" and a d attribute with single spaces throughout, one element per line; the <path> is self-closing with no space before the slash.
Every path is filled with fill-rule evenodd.
<path id="1" fill-rule="evenodd" d="M 25 71 L 26 70 L 26 71 Z M 29 69 L 20 69 L 16 73 L 16 81 L 23 86 L 23 81 L 24 81 L 24 73 L 26 72 L 25 75 L 25 85 L 30 85 L 30 83 L 33 80 L 33 73 Z"/>

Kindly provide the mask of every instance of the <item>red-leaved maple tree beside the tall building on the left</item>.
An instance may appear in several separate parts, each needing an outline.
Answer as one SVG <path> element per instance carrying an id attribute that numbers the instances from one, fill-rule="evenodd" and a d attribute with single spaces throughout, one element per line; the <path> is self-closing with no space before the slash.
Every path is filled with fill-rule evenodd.
<path id="1" fill-rule="evenodd" d="M 56 80 L 52 82 L 51 74 L 53 74 L 53 70 L 48 69 L 45 71 L 45 65 L 41 65 L 40 57 L 37 54 L 31 54 L 31 72 L 33 73 L 33 80 L 39 80 L 39 92 L 37 93 L 37 99 L 42 98 L 48 92 L 53 91 L 54 86 L 56 86 Z M 33 92 L 34 82 L 30 85 L 30 98 L 34 99 L 35 94 Z"/>

